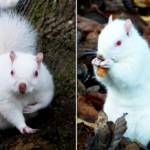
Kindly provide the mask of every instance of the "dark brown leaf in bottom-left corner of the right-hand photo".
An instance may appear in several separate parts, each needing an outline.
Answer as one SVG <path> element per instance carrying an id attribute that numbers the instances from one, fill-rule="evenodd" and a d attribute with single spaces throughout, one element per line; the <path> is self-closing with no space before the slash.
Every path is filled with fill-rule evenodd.
<path id="1" fill-rule="evenodd" d="M 77 135 L 77 145 L 78 150 L 81 149 L 81 147 L 84 145 L 84 143 L 89 139 L 89 135 L 86 134 L 84 131 L 78 131 Z"/>

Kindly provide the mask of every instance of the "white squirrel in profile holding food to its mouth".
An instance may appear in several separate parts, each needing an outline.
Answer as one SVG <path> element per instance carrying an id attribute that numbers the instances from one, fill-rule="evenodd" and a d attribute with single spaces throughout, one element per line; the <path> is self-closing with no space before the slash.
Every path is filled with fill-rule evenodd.
<path id="1" fill-rule="evenodd" d="M 104 111 L 116 121 L 123 113 L 128 129 L 124 136 L 143 145 L 150 141 L 150 49 L 131 20 L 112 20 L 98 38 L 97 55 L 92 60 L 95 76 L 108 94 Z M 106 68 L 106 76 L 97 76 L 97 67 Z"/>

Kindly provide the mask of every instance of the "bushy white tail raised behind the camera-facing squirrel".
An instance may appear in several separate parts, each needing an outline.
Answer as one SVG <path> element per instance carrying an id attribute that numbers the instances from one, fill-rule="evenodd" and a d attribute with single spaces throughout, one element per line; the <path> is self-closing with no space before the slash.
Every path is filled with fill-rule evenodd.
<path id="1" fill-rule="evenodd" d="M 34 53 L 37 32 L 22 16 L 12 11 L 0 12 L 0 54 L 10 51 Z"/>

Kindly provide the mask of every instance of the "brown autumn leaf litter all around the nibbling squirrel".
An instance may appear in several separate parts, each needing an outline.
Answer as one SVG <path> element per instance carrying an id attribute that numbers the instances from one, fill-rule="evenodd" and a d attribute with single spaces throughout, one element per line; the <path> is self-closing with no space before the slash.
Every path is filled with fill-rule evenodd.
<path id="1" fill-rule="evenodd" d="M 91 61 L 97 55 L 98 36 L 115 18 L 130 18 L 150 46 L 149 0 L 78 0 L 77 5 L 77 148 L 78 150 L 147 150 L 135 139 L 124 137 L 126 112 L 116 122 L 103 111 L 107 96 L 94 77 Z"/>

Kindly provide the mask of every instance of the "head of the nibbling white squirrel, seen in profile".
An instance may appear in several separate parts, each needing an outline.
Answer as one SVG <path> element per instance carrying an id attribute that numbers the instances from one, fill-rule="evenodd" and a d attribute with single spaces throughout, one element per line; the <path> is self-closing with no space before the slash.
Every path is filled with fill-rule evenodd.
<path id="1" fill-rule="evenodd" d="M 130 19 L 113 21 L 110 16 L 108 25 L 98 37 L 97 54 L 104 59 L 119 61 L 132 53 L 131 47 L 136 42 L 137 36 L 139 37 L 139 34 Z"/>

